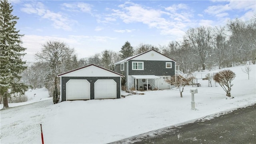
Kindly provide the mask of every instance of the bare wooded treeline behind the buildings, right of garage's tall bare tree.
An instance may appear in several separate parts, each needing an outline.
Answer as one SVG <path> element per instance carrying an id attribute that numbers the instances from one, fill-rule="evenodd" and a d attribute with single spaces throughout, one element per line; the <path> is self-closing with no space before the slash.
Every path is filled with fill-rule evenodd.
<path id="1" fill-rule="evenodd" d="M 125 42 L 122 48 L 132 47 Z M 78 67 L 87 64 L 97 64 L 109 68 L 111 62 L 116 62 L 122 56 L 119 52 L 104 50 L 89 58 L 78 60 Z M 256 17 L 246 22 L 230 20 L 225 27 L 190 28 L 183 36 L 183 40 L 172 41 L 167 46 L 153 46 L 139 44 L 135 48 L 124 51 L 126 56 L 132 56 L 154 49 L 178 62 L 182 72 L 212 70 L 212 68 L 226 68 L 250 62 L 255 64 L 256 54 Z"/>

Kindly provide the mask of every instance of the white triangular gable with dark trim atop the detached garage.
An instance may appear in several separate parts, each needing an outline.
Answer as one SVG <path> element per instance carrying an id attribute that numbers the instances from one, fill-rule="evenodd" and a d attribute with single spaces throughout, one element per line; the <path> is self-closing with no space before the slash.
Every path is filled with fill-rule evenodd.
<path id="1" fill-rule="evenodd" d="M 83 66 L 81 68 L 77 68 L 74 70 L 70 70 L 68 72 L 64 72 L 59 74 L 60 76 L 66 77 L 124 77 L 124 75 L 119 74 L 117 72 L 113 72 L 106 68 L 102 68 L 101 66 L 97 66 L 95 64 L 89 64 L 87 66 Z"/>

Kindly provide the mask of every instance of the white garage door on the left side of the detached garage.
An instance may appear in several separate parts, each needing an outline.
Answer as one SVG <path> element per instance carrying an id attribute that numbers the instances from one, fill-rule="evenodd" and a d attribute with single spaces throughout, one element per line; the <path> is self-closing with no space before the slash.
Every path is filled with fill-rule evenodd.
<path id="1" fill-rule="evenodd" d="M 66 84 L 66 100 L 90 100 L 90 82 L 69 80 Z"/>

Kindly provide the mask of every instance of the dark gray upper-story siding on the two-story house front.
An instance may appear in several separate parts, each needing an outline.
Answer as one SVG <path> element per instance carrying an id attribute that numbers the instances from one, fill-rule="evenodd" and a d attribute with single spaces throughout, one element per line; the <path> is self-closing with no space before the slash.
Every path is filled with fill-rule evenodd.
<path id="1" fill-rule="evenodd" d="M 144 70 L 132 70 L 132 62 L 144 62 Z M 166 68 L 166 62 L 172 62 L 172 68 Z M 155 76 L 174 76 L 175 62 L 174 61 L 145 61 L 145 60 L 130 60 L 128 75 L 155 75 Z"/>

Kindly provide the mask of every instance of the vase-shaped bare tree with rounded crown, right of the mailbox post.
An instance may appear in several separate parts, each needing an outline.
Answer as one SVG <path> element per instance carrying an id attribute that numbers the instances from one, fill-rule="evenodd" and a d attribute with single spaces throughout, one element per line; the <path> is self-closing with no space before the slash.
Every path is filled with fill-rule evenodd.
<path id="1" fill-rule="evenodd" d="M 225 90 L 226 96 L 231 97 L 231 84 L 232 80 L 236 77 L 236 74 L 231 70 L 222 70 L 214 75 L 214 80 L 220 84 L 220 86 Z M 234 97 L 233 97 L 234 98 Z"/>

